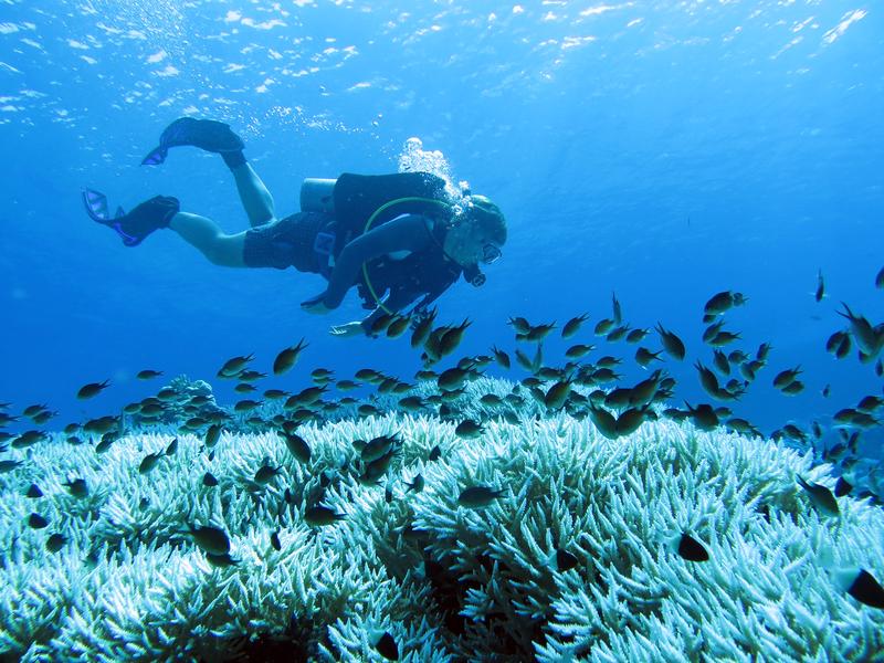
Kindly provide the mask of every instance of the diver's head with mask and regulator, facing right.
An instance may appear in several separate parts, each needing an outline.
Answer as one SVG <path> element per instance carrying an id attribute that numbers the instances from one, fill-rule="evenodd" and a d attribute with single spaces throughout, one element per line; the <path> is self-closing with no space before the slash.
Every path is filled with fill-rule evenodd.
<path id="1" fill-rule="evenodd" d="M 490 265 L 501 257 L 506 243 L 506 219 L 501 209 L 484 196 L 469 196 L 455 225 L 445 234 L 443 249 L 464 269 L 473 285 L 482 285 L 485 276 L 480 264 Z"/>

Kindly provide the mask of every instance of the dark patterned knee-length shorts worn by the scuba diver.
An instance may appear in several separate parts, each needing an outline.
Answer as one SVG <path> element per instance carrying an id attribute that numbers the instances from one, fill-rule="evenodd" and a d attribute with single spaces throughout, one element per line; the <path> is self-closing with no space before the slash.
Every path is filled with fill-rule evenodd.
<path id="1" fill-rule="evenodd" d="M 294 266 L 298 272 L 319 273 L 314 251 L 317 233 L 334 221 L 322 212 L 296 212 L 275 223 L 245 232 L 242 260 L 248 267 Z"/>

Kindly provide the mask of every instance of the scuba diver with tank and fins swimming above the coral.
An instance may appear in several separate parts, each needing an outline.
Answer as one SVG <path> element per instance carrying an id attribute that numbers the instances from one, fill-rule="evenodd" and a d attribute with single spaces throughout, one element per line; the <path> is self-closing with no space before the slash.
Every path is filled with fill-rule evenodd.
<path id="1" fill-rule="evenodd" d="M 217 265 L 294 266 L 322 274 L 328 287 L 301 304 L 313 314 L 337 308 L 357 285 L 362 307 L 372 313 L 332 327 L 335 336 L 372 336 L 379 318 L 398 314 L 422 297 L 403 314 L 412 316 L 414 324 L 461 275 L 474 286 L 482 285 L 485 276 L 478 265 L 497 261 L 506 242 L 506 221 L 496 204 L 469 191 L 455 203 L 445 181 L 429 172 L 306 179 L 301 211 L 277 219 L 273 198 L 243 155 L 243 140 L 229 125 L 215 120 L 175 120 L 141 164 L 159 165 L 169 148 L 186 145 L 224 159 L 249 217 L 249 230 L 225 234 L 211 219 L 182 212 L 178 199 L 168 196 L 156 196 L 129 212 L 118 208 L 110 217 L 107 198 L 85 189 L 83 201 L 92 220 L 113 229 L 126 246 L 169 228 Z"/>

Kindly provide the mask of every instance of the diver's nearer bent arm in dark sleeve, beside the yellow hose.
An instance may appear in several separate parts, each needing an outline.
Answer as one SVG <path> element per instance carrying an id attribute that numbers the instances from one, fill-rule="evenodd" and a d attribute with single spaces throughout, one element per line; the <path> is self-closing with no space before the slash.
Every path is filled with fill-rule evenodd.
<path id="1" fill-rule="evenodd" d="M 393 251 L 420 251 L 427 246 L 431 241 L 429 223 L 425 217 L 404 214 L 349 242 L 336 261 L 323 304 L 327 308 L 337 308 L 367 260 Z"/>

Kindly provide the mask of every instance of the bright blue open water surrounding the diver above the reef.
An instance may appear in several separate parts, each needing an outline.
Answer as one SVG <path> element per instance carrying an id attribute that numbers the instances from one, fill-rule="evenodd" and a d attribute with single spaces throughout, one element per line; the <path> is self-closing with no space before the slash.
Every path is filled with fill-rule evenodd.
<path id="1" fill-rule="evenodd" d="M 298 369 L 262 388 L 296 391 L 320 366 L 420 368 L 407 337 L 327 334 L 364 315 L 355 292 L 314 317 L 299 303 L 323 291 L 316 275 L 213 266 L 170 231 L 126 249 L 87 219 L 86 186 L 127 208 L 177 196 L 245 229 L 217 156 L 178 148 L 139 166 L 169 122 L 194 115 L 244 137 L 280 215 L 305 177 L 396 171 L 410 137 L 492 197 L 509 225 L 504 260 L 484 287 L 461 282 L 440 301 L 440 320 L 473 320 L 457 356 L 516 347 L 509 316 L 586 312 L 577 338 L 546 344 L 547 364 L 596 343 L 593 357 L 625 357 L 624 380 L 639 379 L 634 346 L 591 334 L 615 292 L 633 326 L 662 322 L 685 340 L 686 360 L 666 361 L 674 404 L 708 402 L 692 368 L 712 359 L 703 305 L 736 290 L 749 302 L 727 315 L 735 347 L 775 349 L 735 413 L 766 432 L 827 422 L 882 389 L 855 352 L 836 361 L 823 347 L 841 301 L 884 320 L 882 35 L 880 7 L 836 0 L 6 0 L 0 401 L 48 403 L 57 429 L 154 393 L 134 378 L 152 368 L 209 379 L 230 403 L 232 383 L 214 379 L 225 359 L 254 352 L 270 372 L 301 337 Z M 777 392 L 774 375 L 799 364 L 806 391 Z M 75 399 L 104 379 L 106 392 Z M 881 427 L 864 436 L 884 441 Z"/>

